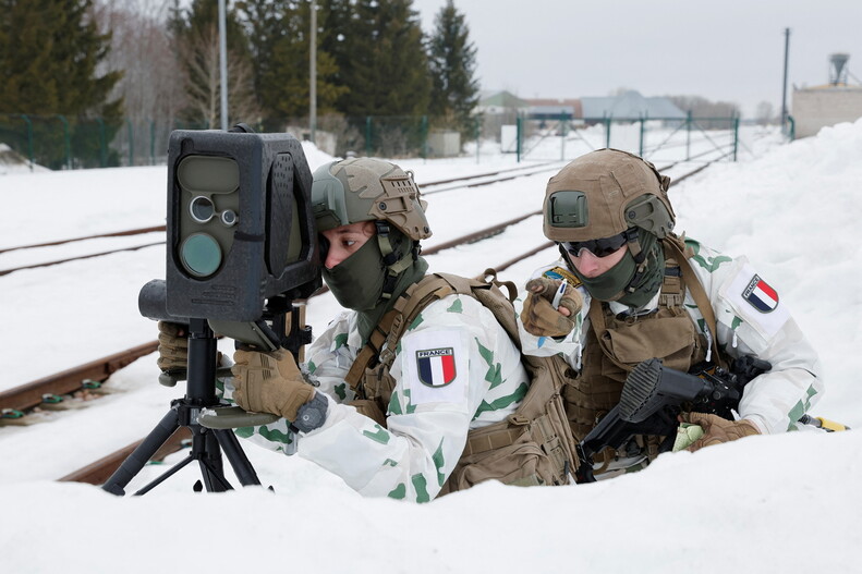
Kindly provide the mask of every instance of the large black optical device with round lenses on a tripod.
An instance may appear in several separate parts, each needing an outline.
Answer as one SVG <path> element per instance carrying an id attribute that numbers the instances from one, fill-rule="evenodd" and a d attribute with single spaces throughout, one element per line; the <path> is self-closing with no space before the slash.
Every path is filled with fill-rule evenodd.
<path id="1" fill-rule="evenodd" d="M 187 369 L 159 378 L 168 386 L 185 378 L 186 392 L 171 402 L 105 490 L 124 494 L 180 427 L 192 431 L 189 456 L 136 494 L 193 461 L 207 491 L 231 489 L 221 451 L 243 486 L 260 484 L 231 427 L 277 417 L 220 404 L 214 333 L 262 351 L 284 347 L 294 356 L 311 341 L 294 303 L 321 284 L 311 190 L 305 154 L 290 134 L 256 134 L 243 124 L 230 132 L 171 134 L 166 279 L 144 285 L 138 308 L 150 319 L 189 326 Z"/>

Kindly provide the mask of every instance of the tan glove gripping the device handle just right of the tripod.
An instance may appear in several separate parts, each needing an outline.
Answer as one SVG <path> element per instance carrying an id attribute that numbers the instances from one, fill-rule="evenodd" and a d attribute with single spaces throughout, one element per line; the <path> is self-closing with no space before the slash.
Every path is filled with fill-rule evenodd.
<path id="1" fill-rule="evenodd" d="M 295 422 L 300 406 L 314 398 L 314 387 L 305 382 L 293 355 L 287 351 L 236 351 L 233 361 L 233 400 L 245 411 L 271 413 Z"/>

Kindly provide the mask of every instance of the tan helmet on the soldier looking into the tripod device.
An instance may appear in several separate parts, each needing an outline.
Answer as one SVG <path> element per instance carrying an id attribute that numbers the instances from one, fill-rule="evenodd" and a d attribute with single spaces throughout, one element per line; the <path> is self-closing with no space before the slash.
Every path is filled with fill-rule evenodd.
<path id="1" fill-rule="evenodd" d="M 332 161 L 314 172 L 312 209 L 317 231 L 385 220 L 413 241 L 429 237 L 427 203 L 413 173 L 372 158 Z"/>

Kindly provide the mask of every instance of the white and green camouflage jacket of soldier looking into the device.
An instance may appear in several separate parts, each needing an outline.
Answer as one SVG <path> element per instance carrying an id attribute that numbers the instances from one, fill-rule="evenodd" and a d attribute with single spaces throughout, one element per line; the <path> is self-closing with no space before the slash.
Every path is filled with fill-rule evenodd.
<path id="1" fill-rule="evenodd" d="M 397 384 L 387 428 L 344 404 L 355 398 L 344 377 L 361 349 L 353 312 L 342 313 L 309 345 L 303 370 L 329 401 L 320 428 L 296 439 L 280 419 L 236 433 L 284 454 L 295 450 L 362 494 L 425 502 L 451 474 L 468 431 L 506 418 L 529 388 L 518 349 L 470 296 L 432 303 L 401 338 L 390 369 Z M 232 390 L 226 380 L 226 399 Z"/>

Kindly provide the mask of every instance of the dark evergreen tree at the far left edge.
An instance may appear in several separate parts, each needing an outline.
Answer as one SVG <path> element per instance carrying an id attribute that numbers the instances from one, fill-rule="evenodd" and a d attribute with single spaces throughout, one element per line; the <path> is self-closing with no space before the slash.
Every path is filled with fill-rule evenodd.
<path id="1" fill-rule="evenodd" d="M 122 100 L 109 95 L 122 72 L 102 70 L 109 47 L 110 34 L 99 32 L 92 0 L 0 0 L 0 114 L 31 119 L 37 162 L 116 162 L 107 142 L 119 126 Z M 28 152 L 27 136 L 11 118 L 3 118 L 0 137 Z M 87 124 L 86 118 L 101 123 Z M 74 159 L 66 158 L 66 135 Z"/>

